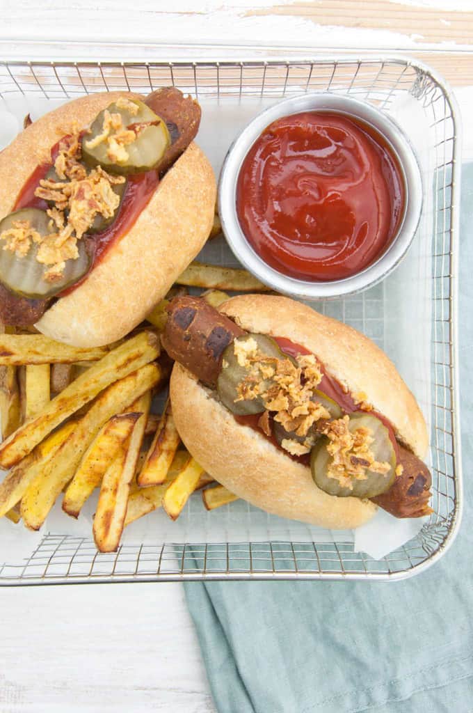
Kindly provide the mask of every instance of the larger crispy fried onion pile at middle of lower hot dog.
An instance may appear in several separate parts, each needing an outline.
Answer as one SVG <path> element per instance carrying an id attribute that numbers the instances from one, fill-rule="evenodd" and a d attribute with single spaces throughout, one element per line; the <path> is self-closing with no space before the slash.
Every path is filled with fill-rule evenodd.
<path id="1" fill-rule="evenodd" d="M 288 438 L 282 448 L 296 456 L 308 453 L 318 434 L 309 433 L 313 424 L 329 419 L 328 410 L 314 399 L 322 379 L 320 366 L 313 354 L 298 356 L 296 364 L 289 358 L 277 359 L 263 354 L 255 339 L 236 339 L 234 354 L 248 375 L 237 387 L 236 401 L 261 397 L 267 411 L 274 412 L 274 421 L 284 426 Z M 299 443 L 289 434 L 303 437 Z"/>

